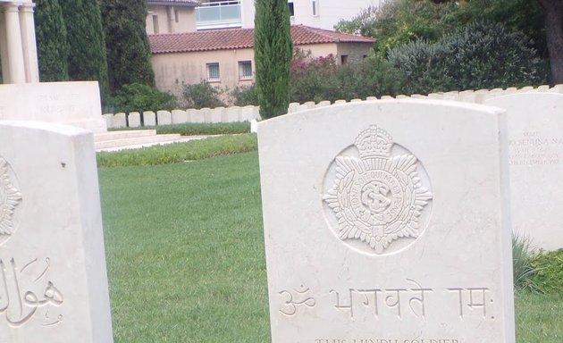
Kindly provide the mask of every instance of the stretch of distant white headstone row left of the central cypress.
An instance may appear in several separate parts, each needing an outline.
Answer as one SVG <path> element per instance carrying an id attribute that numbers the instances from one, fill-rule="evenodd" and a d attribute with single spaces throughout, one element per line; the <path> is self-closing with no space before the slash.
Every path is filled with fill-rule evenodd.
<path id="1" fill-rule="evenodd" d="M 140 128 L 189 122 L 237 122 L 260 120 L 259 106 L 202 108 L 200 110 L 146 111 L 143 113 L 107 113 L 103 117 L 108 129 Z"/>

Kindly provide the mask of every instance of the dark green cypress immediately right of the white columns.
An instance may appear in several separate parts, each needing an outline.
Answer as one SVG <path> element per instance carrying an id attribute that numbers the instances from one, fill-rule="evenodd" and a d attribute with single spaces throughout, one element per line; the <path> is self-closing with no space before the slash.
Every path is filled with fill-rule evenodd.
<path id="1" fill-rule="evenodd" d="M 58 0 L 36 0 L 35 34 L 38 42 L 39 79 L 69 79 L 66 28 Z"/>

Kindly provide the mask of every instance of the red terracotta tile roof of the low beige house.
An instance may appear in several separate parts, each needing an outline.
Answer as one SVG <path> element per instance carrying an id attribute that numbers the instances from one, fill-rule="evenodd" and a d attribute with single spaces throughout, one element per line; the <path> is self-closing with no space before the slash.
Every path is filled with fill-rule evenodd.
<path id="1" fill-rule="evenodd" d="M 374 38 L 349 35 L 328 29 L 315 29 L 305 25 L 291 27 L 291 38 L 296 46 L 322 43 L 370 43 Z M 208 31 L 149 35 L 153 54 L 184 53 L 194 51 L 231 50 L 254 46 L 254 29 L 214 29 Z"/>

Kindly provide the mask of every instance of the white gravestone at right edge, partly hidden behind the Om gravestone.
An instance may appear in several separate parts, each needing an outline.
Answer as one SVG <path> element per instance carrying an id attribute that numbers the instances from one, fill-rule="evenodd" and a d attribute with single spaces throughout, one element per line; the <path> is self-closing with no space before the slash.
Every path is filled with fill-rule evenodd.
<path id="1" fill-rule="evenodd" d="M 514 232 L 533 247 L 563 248 L 563 94 L 518 93 L 485 104 L 508 111 Z"/>

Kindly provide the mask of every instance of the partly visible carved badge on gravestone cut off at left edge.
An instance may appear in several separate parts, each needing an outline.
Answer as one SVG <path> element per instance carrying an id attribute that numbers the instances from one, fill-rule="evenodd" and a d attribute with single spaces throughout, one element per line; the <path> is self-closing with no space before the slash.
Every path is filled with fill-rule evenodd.
<path id="1" fill-rule="evenodd" d="M 16 230 L 21 201 L 21 193 L 12 168 L 0 156 L 0 244 L 10 238 Z"/>

